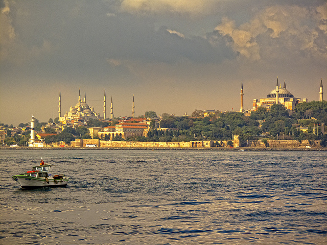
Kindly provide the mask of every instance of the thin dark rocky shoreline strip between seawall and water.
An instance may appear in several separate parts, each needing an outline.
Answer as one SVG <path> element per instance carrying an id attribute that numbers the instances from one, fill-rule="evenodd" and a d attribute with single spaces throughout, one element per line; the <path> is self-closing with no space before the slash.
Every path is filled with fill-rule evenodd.
<path id="1" fill-rule="evenodd" d="M 1 146 L 0 150 L 131 150 L 131 151 L 306 151 L 306 152 L 325 152 L 327 148 L 223 148 L 223 147 L 206 147 L 206 148 L 89 148 L 89 147 L 29 147 L 29 146 Z"/>

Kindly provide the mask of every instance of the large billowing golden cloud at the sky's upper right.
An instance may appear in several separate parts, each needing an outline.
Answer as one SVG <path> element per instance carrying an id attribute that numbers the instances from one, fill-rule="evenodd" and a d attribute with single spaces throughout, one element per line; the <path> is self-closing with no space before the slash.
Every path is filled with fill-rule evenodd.
<path id="1" fill-rule="evenodd" d="M 326 9 L 327 4 L 316 9 L 271 6 L 239 27 L 235 20 L 224 17 L 215 30 L 228 37 L 227 45 L 234 52 L 250 60 L 271 59 L 276 53 L 281 57 L 301 53 L 326 59 Z"/>

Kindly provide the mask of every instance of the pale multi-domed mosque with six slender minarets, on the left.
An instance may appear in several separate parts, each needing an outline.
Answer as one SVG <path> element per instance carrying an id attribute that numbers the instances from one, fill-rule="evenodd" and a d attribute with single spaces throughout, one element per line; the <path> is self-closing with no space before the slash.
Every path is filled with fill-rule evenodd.
<path id="1" fill-rule="evenodd" d="M 61 115 L 61 91 L 59 91 L 59 121 L 63 124 L 77 122 L 77 121 L 87 121 L 90 118 L 105 120 L 106 117 L 106 91 L 104 91 L 104 99 L 103 99 L 103 117 L 100 116 L 98 111 L 94 110 L 94 107 L 88 106 L 86 103 L 86 92 L 84 91 L 84 100 L 81 100 L 81 91 L 78 93 L 78 102 L 75 106 L 71 106 L 69 111 L 62 116 Z M 132 104 L 132 117 L 135 116 L 135 106 L 134 106 L 134 95 L 133 95 L 133 104 Z M 113 119 L 113 106 L 112 106 L 112 97 L 111 97 L 111 105 L 110 105 L 110 119 Z"/>

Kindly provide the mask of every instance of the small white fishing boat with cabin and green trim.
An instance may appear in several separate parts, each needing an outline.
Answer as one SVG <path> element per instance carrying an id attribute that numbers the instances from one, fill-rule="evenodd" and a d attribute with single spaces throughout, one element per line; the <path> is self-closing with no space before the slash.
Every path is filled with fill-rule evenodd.
<path id="1" fill-rule="evenodd" d="M 14 181 L 17 181 L 23 189 L 66 186 L 69 177 L 65 175 L 53 175 L 52 170 L 55 166 L 57 165 L 46 164 L 41 160 L 40 165 L 33 167 L 31 171 L 27 171 L 20 175 L 14 175 L 12 178 Z"/>

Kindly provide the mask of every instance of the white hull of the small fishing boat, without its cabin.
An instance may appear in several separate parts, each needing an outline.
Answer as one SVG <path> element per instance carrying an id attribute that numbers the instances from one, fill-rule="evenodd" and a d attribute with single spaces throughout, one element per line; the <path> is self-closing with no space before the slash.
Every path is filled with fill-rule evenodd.
<path id="1" fill-rule="evenodd" d="M 69 178 L 63 179 L 54 179 L 54 178 L 47 178 L 48 182 L 45 178 L 36 178 L 32 176 L 26 175 L 15 175 L 12 177 L 15 181 L 17 181 L 21 188 L 28 189 L 28 188 L 39 188 L 39 187 L 54 187 L 54 186 L 66 186 Z"/>

